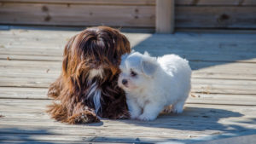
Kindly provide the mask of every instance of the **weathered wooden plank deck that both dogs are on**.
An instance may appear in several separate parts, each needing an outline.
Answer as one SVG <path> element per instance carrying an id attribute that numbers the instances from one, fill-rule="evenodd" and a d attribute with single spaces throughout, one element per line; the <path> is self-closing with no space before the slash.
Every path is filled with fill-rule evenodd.
<path id="1" fill-rule="evenodd" d="M 256 34 L 241 33 L 125 33 L 133 49 L 190 61 L 193 88 L 184 112 L 162 114 L 153 122 L 55 122 L 44 112 L 51 102 L 47 88 L 61 72 L 68 37 L 76 33 L 0 31 L 0 143 L 191 142 L 256 134 Z"/>

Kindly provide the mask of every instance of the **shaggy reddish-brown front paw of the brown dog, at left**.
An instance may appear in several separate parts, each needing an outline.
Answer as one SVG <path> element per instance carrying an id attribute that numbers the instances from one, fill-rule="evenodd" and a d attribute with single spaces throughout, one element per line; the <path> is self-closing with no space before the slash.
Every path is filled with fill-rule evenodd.
<path id="1" fill-rule="evenodd" d="M 67 118 L 67 123 L 69 124 L 88 124 L 96 122 L 100 122 L 100 119 L 96 117 L 95 113 L 90 111 L 79 112 Z"/>

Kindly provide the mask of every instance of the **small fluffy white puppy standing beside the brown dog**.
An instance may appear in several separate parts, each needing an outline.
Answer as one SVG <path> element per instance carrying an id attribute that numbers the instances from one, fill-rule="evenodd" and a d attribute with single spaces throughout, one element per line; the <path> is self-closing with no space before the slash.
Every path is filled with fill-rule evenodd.
<path id="1" fill-rule="evenodd" d="M 147 52 L 133 52 L 122 56 L 120 69 L 118 83 L 125 89 L 131 118 L 154 120 L 164 109 L 183 112 L 191 87 L 188 60 L 177 55 L 155 58 Z"/>

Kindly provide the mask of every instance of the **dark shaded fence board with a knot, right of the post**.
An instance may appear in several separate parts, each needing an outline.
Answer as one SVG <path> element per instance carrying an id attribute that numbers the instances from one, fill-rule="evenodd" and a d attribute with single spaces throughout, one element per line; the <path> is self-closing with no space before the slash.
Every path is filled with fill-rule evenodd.
<path id="1" fill-rule="evenodd" d="M 248 7 L 176 7 L 177 28 L 256 28 L 256 9 Z"/>

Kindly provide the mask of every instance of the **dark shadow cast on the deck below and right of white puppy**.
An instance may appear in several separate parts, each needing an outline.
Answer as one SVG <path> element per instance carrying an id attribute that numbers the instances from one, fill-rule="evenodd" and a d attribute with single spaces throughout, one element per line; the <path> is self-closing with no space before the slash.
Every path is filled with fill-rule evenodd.
<path id="1" fill-rule="evenodd" d="M 225 118 L 241 118 L 243 114 L 240 112 L 231 112 L 223 109 L 205 108 L 205 107 L 186 107 L 181 114 L 161 113 L 154 121 L 139 120 L 119 120 L 126 124 L 136 124 L 143 127 L 164 128 L 172 130 L 219 130 L 223 132 L 241 132 L 248 130 L 242 127 L 242 124 L 248 122 L 240 122 L 240 124 L 221 124 L 219 120 Z M 255 123 L 255 119 L 251 119 Z"/>

